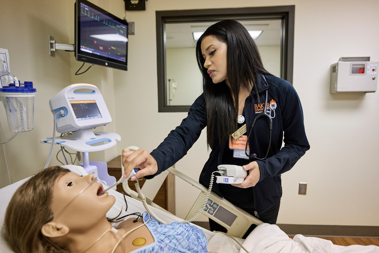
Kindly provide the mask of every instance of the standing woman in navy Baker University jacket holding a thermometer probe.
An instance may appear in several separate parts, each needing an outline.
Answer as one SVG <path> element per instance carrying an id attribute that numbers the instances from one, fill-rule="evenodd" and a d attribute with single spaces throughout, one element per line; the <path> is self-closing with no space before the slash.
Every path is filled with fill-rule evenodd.
<path id="1" fill-rule="evenodd" d="M 160 174 L 185 156 L 207 127 L 211 152 L 199 182 L 208 188 L 220 164 L 242 166 L 248 176 L 241 184 L 213 184 L 212 191 L 262 222 L 275 224 L 282 196 L 280 174 L 310 148 L 299 96 L 290 83 L 266 71 L 254 40 L 235 20 L 211 25 L 197 41 L 196 59 L 204 93 L 151 153 L 122 151 L 124 177 L 136 166 L 141 170 L 132 180 Z M 210 228 L 222 230 L 212 220 Z"/>

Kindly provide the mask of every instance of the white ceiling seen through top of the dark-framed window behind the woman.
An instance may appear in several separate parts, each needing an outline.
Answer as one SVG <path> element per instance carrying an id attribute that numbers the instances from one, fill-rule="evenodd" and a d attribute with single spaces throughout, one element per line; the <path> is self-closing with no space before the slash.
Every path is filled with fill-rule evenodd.
<path id="1" fill-rule="evenodd" d="M 262 30 L 255 39 L 258 46 L 280 46 L 281 20 L 241 20 L 248 30 Z M 193 31 L 205 31 L 215 22 L 193 22 L 166 24 L 166 47 L 194 47 Z"/>

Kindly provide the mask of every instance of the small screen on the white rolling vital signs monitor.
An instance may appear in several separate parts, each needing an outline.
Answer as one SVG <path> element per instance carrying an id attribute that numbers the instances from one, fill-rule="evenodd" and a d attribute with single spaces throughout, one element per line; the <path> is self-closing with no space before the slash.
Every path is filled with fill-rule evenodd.
<path id="1" fill-rule="evenodd" d="M 102 118 L 95 100 L 70 101 L 77 120 Z"/>

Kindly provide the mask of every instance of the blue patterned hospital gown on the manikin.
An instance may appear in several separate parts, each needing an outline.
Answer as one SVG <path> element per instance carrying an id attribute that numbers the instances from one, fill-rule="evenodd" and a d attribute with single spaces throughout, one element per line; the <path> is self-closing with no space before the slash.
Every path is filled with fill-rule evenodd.
<path id="1" fill-rule="evenodd" d="M 144 212 L 143 221 L 149 219 L 149 214 Z M 150 217 L 146 223 L 150 233 L 154 237 L 152 244 L 132 251 L 132 253 L 207 253 L 208 241 L 203 231 L 188 223 L 173 222 L 160 224 Z"/>

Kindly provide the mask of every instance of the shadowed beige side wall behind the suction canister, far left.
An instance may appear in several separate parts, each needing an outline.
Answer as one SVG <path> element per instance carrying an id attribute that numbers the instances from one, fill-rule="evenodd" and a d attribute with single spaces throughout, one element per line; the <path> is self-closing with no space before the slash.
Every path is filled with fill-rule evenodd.
<path id="1" fill-rule="evenodd" d="M 49 145 L 40 143 L 52 137 L 53 115 L 49 99 L 71 84 L 70 53 L 49 56 L 48 35 L 60 43 L 69 43 L 67 3 L 46 0 L 2 1 L 0 47 L 8 49 L 11 72 L 23 81 L 32 81 L 37 89 L 34 99 L 34 130 L 18 134 L 5 144 L 13 182 L 34 174 L 44 167 Z M 9 132 L 3 105 L 0 120 L 5 138 Z M 55 151 L 58 151 L 56 149 Z M 55 152 L 56 154 L 56 152 Z M 51 164 L 56 164 L 53 154 Z M 8 173 L 0 145 L 0 187 L 9 184 Z"/>

